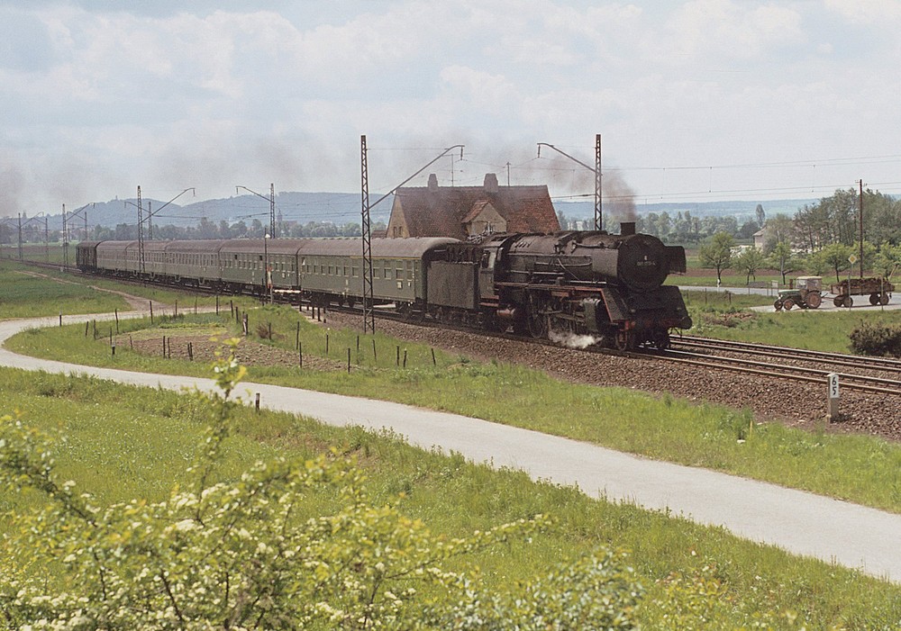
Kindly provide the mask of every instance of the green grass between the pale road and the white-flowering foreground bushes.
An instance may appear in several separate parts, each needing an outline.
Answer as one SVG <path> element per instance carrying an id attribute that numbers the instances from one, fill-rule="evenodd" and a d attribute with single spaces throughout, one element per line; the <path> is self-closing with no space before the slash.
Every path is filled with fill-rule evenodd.
<path id="1" fill-rule="evenodd" d="M 96 493 L 103 504 L 133 497 L 159 500 L 172 484 L 185 482 L 183 472 L 205 419 L 204 406 L 173 392 L 13 369 L 0 369 L 0 399 L 0 411 L 18 409 L 23 419 L 54 436 L 65 434 L 67 440 L 56 440 L 54 449 L 60 475 Z M 422 518 L 442 536 L 536 513 L 554 516 L 557 527 L 532 537 L 528 545 L 505 545 L 461 562 L 469 568 L 478 564 L 489 587 L 545 572 L 599 545 L 614 545 L 629 550 L 630 563 L 649 588 L 642 608 L 647 628 L 660 627 L 654 600 L 665 599 L 667 582 L 676 577 L 704 577 L 724 589 L 717 617 L 694 620 L 696 628 L 748 627 L 770 612 L 793 612 L 807 628 L 889 629 L 901 619 L 896 585 L 754 545 L 721 528 L 590 500 L 576 489 L 492 471 L 459 455 L 424 452 L 359 428 L 332 428 L 251 409 L 239 410 L 236 422 L 240 435 L 229 441 L 220 472 L 224 479 L 234 479 L 259 458 L 307 458 L 338 446 L 364 467 L 374 503 L 400 502 L 407 515 Z M 404 499 L 398 497 L 401 492 Z M 299 507 L 307 512 L 298 517 L 327 510 L 331 501 L 328 493 L 312 496 Z M 0 493 L 0 510 L 21 510 L 34 502 L 33 496 Z"/>

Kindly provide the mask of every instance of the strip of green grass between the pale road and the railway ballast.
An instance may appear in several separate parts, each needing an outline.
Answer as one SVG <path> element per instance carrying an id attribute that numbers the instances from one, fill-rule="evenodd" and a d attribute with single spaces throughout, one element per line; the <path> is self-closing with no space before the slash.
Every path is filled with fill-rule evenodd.
<path id="1" fill-rule="evenodd" d="M 271 323 L 274 340 L 267 343 L 294 352 L 298 321 L 296 311 L 285 307 L 251 311 L 251 338 L 259 324 L 268 335 Z M 183 330 L 189 322 L 204 335 L 217 325 L 234 327 L 227 313 L 219 319 L 214 314 L 158 319 L 152 327 L 148 320 L 123 320 L 116 356 L 108 344 L 106 331 L 114 326 L 110 323 L 98 325 L 103 329 L 97 340 L 93 332 L 85 336 L 85 325 L 74 325 L 26 331 L 7 346 L 27 355 L 66 357 L 78 364 L 206 376 L 207 367 L 200 362 L 139 355 L 124 341 L 130 331 L 162 338 L 172 327 Z M 752 423 L 747 410 L 567 383 L 521 365 L 478 362 L 440 350 L 435 350 L 432 365 L 431 348 L 382 334 L 374 338 L 377 355 L 373 358 L 372 337 L 304 320 L 305 356 L 324 356 L 326 336 L 334 370 L 251 367 L 248 379 L 446 410 L 901 512 L 901 446 L 876 437 L 811 432 L 778 423 L 760 425 Z M 401 356 L 407 354 L 406 368 L 396 365 L 398 347 Z M 344 368 L 348 348 L 350 374 Z"/>

